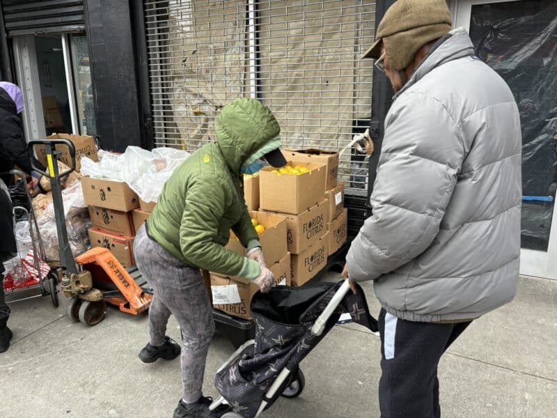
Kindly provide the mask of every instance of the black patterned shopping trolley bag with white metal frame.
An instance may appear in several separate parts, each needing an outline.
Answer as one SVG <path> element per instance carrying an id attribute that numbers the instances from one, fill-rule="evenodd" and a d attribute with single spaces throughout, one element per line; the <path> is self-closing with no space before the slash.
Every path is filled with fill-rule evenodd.
<path id="1" fill-rule="evenodd" d="M 246 342 L 221 366 L 215 386 L 221 396 L 211 410 L 228 403 L 221 418 L 254 418 L 278 396 L 295 398 L 304 390 L 299 364 L 336 324 L 341 314 L 378 332 L 363 290 L 354 295 L 347 281 L 277 286 L 251 302 L 255 339 Z"/>

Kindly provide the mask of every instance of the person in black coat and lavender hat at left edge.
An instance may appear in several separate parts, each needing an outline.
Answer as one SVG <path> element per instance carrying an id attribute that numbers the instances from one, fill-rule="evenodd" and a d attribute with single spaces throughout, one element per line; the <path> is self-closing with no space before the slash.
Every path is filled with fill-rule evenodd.
<path id="1" fill-rule="evenodd" d="M 0 82 L 0 173 L 8 173 L 15 165 L 34 177 L 38 184 L 40 178 L 32 172 L 31 156 L 23 137 L 22 119 L 23 94 L 15 84 Z M 44 171 L 40 162 L 36 166 Z M 2 175 L 0 178 L 0 353 L 8 350 L 12 332 L 8 328 L 10 308 L 4 300 L 3 262 L 8 261 L 17 252 L 13 233 L 12 203 L 7 185 L 12 185 L 13 176 Z"/>

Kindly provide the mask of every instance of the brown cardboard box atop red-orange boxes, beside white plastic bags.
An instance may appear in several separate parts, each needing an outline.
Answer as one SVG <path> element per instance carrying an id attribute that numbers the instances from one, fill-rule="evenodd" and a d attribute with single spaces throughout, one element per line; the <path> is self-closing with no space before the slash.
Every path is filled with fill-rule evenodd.
<path id="1" fill-rule="evenodd" d="M 139 208 L 139 196 L 124 182 L 81 178 L 83 199 L 90 206 L 130 212 Z"/>

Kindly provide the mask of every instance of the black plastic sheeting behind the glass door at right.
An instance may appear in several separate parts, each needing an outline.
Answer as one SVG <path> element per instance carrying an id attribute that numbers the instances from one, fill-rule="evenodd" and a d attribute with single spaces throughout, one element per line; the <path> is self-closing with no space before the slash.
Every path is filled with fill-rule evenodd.
<path id="1" fill-rule="evenodd" d="M 522 124 L 522 247 L 547 251 L 557 188 L 557 1 L 472 6 L 480 59 L 515 94 Z"/>

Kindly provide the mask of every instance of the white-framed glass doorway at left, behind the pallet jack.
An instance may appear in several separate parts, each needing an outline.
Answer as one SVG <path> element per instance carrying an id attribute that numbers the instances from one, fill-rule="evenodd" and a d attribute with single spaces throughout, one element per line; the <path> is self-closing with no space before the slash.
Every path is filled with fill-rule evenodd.
<path id="1" fill-rule="evenodd" d="M 26 139 L 53 133 L 96 134 L 86 35 L 14 39 L 17 82 L 24 91 Z"/>

